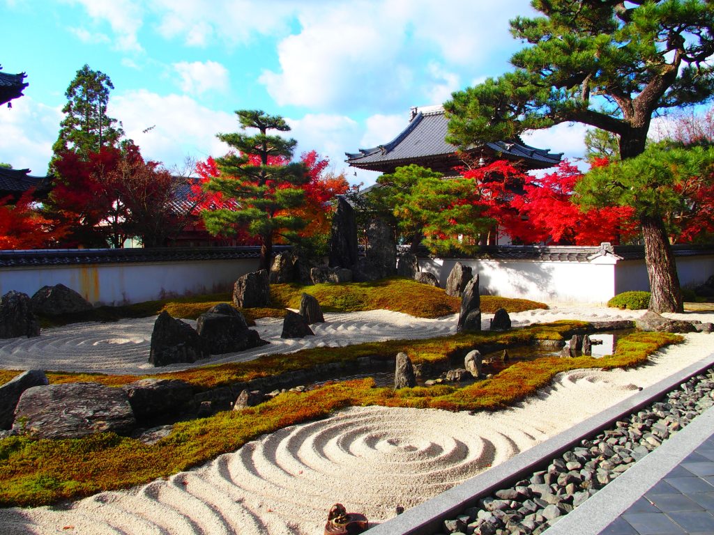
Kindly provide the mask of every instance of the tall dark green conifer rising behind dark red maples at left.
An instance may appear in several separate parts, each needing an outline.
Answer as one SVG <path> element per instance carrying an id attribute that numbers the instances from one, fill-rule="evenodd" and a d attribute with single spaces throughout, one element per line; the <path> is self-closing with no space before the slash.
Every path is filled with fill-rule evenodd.
<path id="1" fill-rule="evenodd" d="M 92 71 L 89 65 L 77 71 L 64 93 L 67 103 L 62 108 L 64 119 L 59 123 L 59 136 L 52 146 L 51 171 L 61 153 L 73 150 L 86 158 L 101 148 L 115 146 L 124 135 L 121 128 L 114 126 L 116 119 L 106 115 L 110 89 L 114 85 L 103 72 Z"/>

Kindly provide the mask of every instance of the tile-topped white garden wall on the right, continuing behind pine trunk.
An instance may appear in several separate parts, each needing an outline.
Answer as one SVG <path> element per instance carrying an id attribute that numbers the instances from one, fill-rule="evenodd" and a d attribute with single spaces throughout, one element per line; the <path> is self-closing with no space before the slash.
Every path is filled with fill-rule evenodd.
<path id="1" fill-rule="evenodd" d="M 683 287 L 700 285 L 714 275 L 714 248 L 675 246 Z M 601 304 L 628 290 L 649 290 L 644 250 L 640 246 L 491 247 L 475 258 L 419 258 L 443 287 L 456 262 L 480 277 L 481 293 L 535 301 Z"/>

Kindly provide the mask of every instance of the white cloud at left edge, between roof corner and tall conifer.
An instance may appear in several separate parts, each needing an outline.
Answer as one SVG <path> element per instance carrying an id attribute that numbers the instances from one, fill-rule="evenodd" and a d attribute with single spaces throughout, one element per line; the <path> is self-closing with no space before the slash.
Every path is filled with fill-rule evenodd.
<path id="1" fill-rule="evenodd" d="M 31 169 L 32 175 L 44 175 L 57 140 L 59 108 L 51 108 L 22 96 L 12 101 L 12 108 L 0 107 L 0 161 L 16 169 Z"/>

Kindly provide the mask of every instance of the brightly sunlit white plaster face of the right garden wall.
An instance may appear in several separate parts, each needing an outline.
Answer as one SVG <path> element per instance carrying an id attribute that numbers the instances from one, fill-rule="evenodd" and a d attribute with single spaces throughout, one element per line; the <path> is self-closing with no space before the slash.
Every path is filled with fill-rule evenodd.
<path id="1" fill-rule="evenodd" d="M 615 295 L 615 270 L 606 263 L 535 260 L 419 259 L 421 270 L 446 285 L 453 265 L 461 262 L 478 272 L 483 295 L 519 297 L 545 302 L 604 303 Z"/>

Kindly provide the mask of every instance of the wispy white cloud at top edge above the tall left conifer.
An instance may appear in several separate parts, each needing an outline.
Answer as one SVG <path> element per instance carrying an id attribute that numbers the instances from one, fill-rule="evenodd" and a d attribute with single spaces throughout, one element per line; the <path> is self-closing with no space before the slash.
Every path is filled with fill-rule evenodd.
<path id="1" fill-rule="evenodd" d="M 114 32 L 116 49 L 142 51 L 136 34 L 141 28 L 143 11 L 134 0 L 65 0 L 71 4 L 81 4 L 95 21 L 103 21 Z M 81 39 L 81 37 L 80 37 Z"/>

